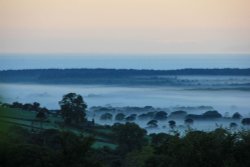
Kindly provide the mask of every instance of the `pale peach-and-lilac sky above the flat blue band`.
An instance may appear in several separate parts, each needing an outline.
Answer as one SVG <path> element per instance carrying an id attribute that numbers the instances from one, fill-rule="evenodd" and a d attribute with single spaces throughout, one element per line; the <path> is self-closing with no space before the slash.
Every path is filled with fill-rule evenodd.
<path id="1" fill-rule="evenodd" d="M 250 53 L 249 0 L 0 0 L 0 53 Z"/>

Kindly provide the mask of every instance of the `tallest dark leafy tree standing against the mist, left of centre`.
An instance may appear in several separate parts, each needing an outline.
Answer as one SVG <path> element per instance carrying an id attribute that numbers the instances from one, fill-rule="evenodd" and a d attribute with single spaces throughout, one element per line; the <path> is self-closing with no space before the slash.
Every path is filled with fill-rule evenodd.
<path id="1" fill-rule="evenodd" d="M 61 114 L 65 123 L 79 124 L 86 120 L 87 104 L 81 95 L 76 93 L 68 93 L 59 101 Z"/>

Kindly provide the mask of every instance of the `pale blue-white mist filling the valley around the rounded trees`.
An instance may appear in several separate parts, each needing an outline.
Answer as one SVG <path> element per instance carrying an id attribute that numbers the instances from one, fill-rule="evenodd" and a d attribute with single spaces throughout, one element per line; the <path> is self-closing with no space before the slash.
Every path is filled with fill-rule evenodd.
<path id="1" fill-rule="evenodd" d="M 164 77 L 164 76 L 160 76 Z M 21 103 L 39 102 L 48 109 L 59 109 L 58 101 L 64 94 L 76 92 L 84 97 L 88 105 L 88 119 L 95 119 L 96 123 L 111 125 L 115 119 L 101 120 L 98 112 L 92 112 L 93 106 L 114 107 L 122 110 L 126 106 L 144 107 L 152 106 L 157 111 L 165 111 L 170 114 L 173 111 L 182 110 L 188 114 L 202 114 L 206 111 L 216 110 L 223 118 L 214 120 L 194 120 L 192 126 L 187 127 L 182 119 L 173 119 L 175 128 L 186 130 L 187 128 L 212 130 L 216 127 L 229 127 L 234 122 L 241 125 L 240 120 L 226 119 L 238 112 L 243 117 L 250 117 L 250 78 L 247 76 L 178 76 L 169 77 L 171 81 L 181 82 L 182 86 L 148 85 L 148 86 L 122 86 L 122 85 L 84 85 L 84 84 L 0 84 L 4 90 L 2 102 Z M 152 79 L 152 78 L 151 78 Z M 188 83 L 185 85 L 184 83 Z M 202 107 L 203 106 L 203 107 Z M 109 111 L 110 112 L 110 111 Z M 113 116 L 117 110 L 110 112 Z M 143 111 L 144 112 L 144 111 Z M 95 115 L 93 115 L 95 113 Z M 140 115 L 137 111 L 127 108 L 125 116 L 130 114 Z M 173 130 L 168 121 L 158 120 L 157 127 L 148 128 L 148 120 L 135 119 L 141 127 L 149 132 L 166 132 Z M 118 121 L 119 122 L 119 121 Z M 122 121 L 120 121 L 122 123 Z M 238 126 L 241 127 L 241 126 Z"/>

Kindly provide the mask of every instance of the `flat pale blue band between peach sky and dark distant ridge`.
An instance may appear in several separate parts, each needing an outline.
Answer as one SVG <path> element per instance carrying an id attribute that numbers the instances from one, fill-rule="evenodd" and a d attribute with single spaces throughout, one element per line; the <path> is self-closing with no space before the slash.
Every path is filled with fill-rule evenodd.
<path id="1" fill-rule="evenodd" d="M 0 70 L 41 68 L 250 68 L 250 55 L 241 54 L 1 54 Z"/>

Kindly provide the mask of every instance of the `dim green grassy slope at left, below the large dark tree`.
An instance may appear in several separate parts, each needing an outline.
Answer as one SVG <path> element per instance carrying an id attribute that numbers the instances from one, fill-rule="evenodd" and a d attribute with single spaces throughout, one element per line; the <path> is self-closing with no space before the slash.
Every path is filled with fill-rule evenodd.
<path id="1" fill-rule="evenodd" d="M 13 109 L 13 108 L 6 108 L 0 106 L 0 136 L 3 137 L 5 134 L 8 134 L 9 129 L 13 126 L 20 126 L 27 129 L 32 129 L 32 121 L 35 121 L 35 112 L 30 111 L 24 111 L 21 109 Z M 101 129 L 93 128 L 91 130 L 88 130 L 88 132 L 84 130 L 78 130 L 75 128 L 70 127 L 64 127 L 60 128 L 55 122 L 56 121 L 62 121 L 60 117 L 48 117 L 48 122 L 43 123 L 43 129 L 58 129 L 58 130 L 69 130 L 77 134 L 83 134 L 83 135 L 91 135 L 96 138 L 96 142 L 94 143 L 94 148 L 100 148 L 100 147 L 110 147 L 115 148 L 116 145 L 108 142 L 108 139 L 105 136 L 96 135 L 96 132 L 102 131 Z M 34 129 L 40 129 L 41 125 L 39 122 L 35 122 L 33 124 Z M 104 133 L 104 132 L 103 132 Z M 107 133 L 110 133 L 107 132 Z"/>

